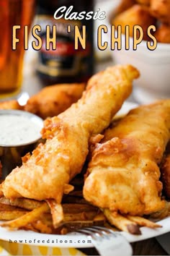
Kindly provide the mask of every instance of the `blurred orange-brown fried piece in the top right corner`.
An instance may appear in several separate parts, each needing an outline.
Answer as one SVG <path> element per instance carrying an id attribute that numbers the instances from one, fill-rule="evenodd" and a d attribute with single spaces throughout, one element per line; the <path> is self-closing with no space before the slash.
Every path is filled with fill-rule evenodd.
<path id="1" fill-rule="evenodd" d="M 161 22 L 170 25 L 170 1 L 169 0 L 151 0 L 151 14 Z"/>

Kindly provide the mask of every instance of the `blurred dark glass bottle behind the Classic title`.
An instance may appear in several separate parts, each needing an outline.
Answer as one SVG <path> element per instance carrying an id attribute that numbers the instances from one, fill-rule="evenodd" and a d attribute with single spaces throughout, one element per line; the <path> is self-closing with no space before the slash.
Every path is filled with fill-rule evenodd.
<path id="1" fill-rule="evenodd" d="M 43 85 L 53 85 L 63 82 L 86 82 L 94 69 L 93 52 L 93 20 L 55 20 L 53 15 L 59 7 L 73 6 L 72 12 L 93 11 L 93 0 L 39 0 L 37 22 L 41 27 L 56 25 L 56 50 L 38 51 L 39 63 L 37 72 Z M 59 14 L 61 15 L 61 14 Z M 74 38 L 68 33 L 68 25 L 86 26 L 86 49 L 74 49 Z M 45 30 L 40 32 L 42 42 L 45 41 Z"/>

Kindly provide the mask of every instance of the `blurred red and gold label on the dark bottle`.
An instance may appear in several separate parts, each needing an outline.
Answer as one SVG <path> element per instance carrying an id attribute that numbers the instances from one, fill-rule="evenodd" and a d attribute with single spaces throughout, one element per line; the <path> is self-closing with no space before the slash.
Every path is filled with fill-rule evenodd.
<path id="1" fill-rule="evenodd" d="M 41 27 L 40 37 L 42 38 L 42 48 L 39 51 L 38 72 L 47 74 L 50 77 L 74 77 L 91 75 L 89 61 L 92 56 L 92 44 L 86 42 L 86 49 L 81 46 L 78 50 L 74 48 L 74 35 L 68 33 L 68 24 L 81 27 L 83 24 L 76 20 L 55 20 L 50 15 L 38 15 L 37 22 Z M 46 26 L 56 25 L 56 49 L 46 49 Z M 50 35 L 52 37 L 52 33 Z M 88 38 L 88 37 L 87 37 Z"/>

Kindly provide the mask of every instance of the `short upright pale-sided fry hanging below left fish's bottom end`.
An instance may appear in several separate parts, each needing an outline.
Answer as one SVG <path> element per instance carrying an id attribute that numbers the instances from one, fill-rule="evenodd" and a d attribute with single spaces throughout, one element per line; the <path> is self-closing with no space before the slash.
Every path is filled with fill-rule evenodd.
<path id="1" fill-rule="evenodd" d="M 50 212 L 52 214 L 53 226 L 56 229 L 58 226 L 61 226 L 61 223 L 63 223 L 63 207 L 61 204 L 55 202 L 55 200 L 48 199 L 46 201 L 48 202 Z"/>

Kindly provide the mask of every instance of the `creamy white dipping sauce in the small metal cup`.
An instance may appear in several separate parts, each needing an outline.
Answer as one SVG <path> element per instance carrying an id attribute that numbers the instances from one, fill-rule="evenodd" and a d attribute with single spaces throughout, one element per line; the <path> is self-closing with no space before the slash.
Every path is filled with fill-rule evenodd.
<path id="1" fill-rule="evenodd" d="M 38 140 L 41 125 L 24 115 L 0 115 L 0 145 L 24 145 Z"/>

